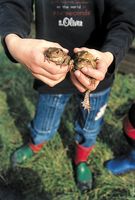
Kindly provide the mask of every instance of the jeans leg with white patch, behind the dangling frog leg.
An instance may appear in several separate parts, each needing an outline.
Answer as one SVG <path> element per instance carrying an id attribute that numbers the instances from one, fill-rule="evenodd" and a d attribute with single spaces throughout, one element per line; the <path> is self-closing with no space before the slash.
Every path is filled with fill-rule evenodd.
<path id="1" fill-rule="evenodd" d="M 75 123 L 76 136 L 75 140 L 82 146 L 90 147 L 96 142 L 102 124 L 103 115 L 107 106 L 110 88 L 90 95 L 91 109 L 90 112 L 80 106 L 77 121 Z M 83 101 L 82 96 L 78 101 Z"/>

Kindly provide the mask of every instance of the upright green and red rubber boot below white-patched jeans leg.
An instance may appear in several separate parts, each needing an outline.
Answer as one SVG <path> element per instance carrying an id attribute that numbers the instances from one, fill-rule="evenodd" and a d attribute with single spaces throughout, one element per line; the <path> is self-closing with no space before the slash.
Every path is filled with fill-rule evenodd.
<path id="1" fill-rule="evenodd" d="M 77 144 L 75 155 L 75 173 L 77 187 L 82 191 L 92 188 L 92 173 L 87 165 L 87 159 L 93 147 Z"/>

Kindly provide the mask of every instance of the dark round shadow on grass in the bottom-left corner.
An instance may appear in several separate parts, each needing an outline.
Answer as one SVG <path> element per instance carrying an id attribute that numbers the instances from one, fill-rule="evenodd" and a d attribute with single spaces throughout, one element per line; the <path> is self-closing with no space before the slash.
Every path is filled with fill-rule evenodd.
<path id="1" fill-rule="evenodd" d="M 0 199 L 2 200 L 50 200 L 51 194 L 41 188 L 38 173 L 28 168 L 9 169 L 5 179 L 0 179 Z M 6 181 L 8 177 L 8 181 Z"/>

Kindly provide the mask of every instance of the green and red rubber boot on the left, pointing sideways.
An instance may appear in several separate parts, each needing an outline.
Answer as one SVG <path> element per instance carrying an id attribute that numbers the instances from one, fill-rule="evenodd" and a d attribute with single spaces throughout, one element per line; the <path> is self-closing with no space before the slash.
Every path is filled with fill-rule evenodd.
<path id="1" fill-rule="evenodd" d="M 44 144 L 35 145 L 32 142 L 29 142 L 28 144 L 21 146 L 19 149 L 16 149 L 11 156 L 12 166 L 15 167 L 32 158 L 42 149 L 43 145 Z"/>

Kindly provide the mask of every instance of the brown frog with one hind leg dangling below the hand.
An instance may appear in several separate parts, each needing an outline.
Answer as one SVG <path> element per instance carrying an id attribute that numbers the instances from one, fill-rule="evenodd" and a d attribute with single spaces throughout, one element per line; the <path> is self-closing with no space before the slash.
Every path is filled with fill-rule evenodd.
<path id="1" fill-rule="evenodd" d="M 73 67 L 73 71 L 75 70 L 81 70 L 84 67 L 91 67 L 96 69 L 96 65 L 97 65 L 97 60 L 98 58 L 94 58 L 94 56 L 85 50 L 79 51 L 75 54 L 75 58 L 74 58 L 74 67 Z M 89 77 L 89 81 L 90 84 L 95 85 L 95 79 L 92 77 Z M 84 95 L 84 100 L 81 102 L 82 107 L 87 110 L 88 112 L 90 112 L 90 92 L 91 90 L 87 89 Z"/>

